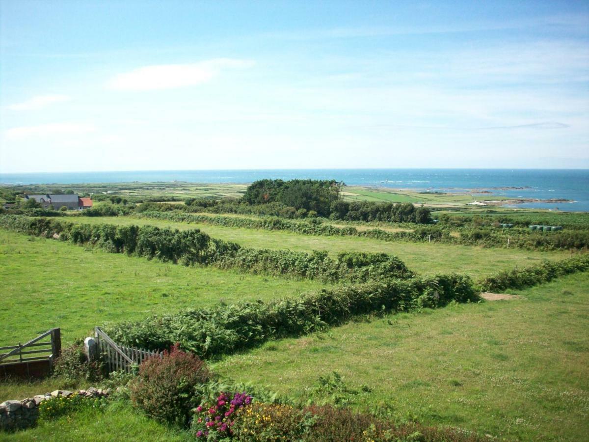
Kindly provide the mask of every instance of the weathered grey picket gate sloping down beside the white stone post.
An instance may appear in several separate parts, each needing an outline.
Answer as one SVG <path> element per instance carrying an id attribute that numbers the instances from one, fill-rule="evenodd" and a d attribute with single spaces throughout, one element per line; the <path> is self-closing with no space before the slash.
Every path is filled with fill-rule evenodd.
<path id="1" fill-rule="evenodd" d="M 100 327 L 94 328 L 94 334 L 98 352 L 102 355 L 108 373 L 113 371 L 130 373 L 133 370 L 133 366 L 141 364 L 144 359 L 154 356 L 161 358 L 163 355 L 163 352 L 118 345 Z"/>

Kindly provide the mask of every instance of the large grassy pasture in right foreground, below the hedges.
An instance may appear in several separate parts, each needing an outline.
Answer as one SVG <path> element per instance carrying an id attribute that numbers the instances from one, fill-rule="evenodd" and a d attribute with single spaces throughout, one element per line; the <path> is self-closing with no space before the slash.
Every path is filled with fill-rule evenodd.
<path id="1" fill-rule="evenodd" d="M 333 371 L 360 409 L 499 440 L 586 440 L 589 273 L 521 299 L 388 315 L 227 357 L 214 371 L 306 401 Z M 362 385 L 372 392 L 362 392 Z"/>

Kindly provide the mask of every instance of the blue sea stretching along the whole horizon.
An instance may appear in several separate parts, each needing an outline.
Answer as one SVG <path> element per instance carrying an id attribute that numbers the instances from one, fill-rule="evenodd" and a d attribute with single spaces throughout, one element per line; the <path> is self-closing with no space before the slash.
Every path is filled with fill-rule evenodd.
<path id="1" fill-rule="evenodd" d="M 263 178 L 335 179 L 346 184 L 451 191 L 480 189 L 510 198 L 568 199 L 573 203 L 526 203 L 573 212 L 589 212 L 589 170 L 562 169 L 267 169 L 144 170 L 74 173 L 1 173 L 3 184 L 76 184 L 171 182 L 251 183 Z M 525 187 L 524 189 L 505 189 Z"/>

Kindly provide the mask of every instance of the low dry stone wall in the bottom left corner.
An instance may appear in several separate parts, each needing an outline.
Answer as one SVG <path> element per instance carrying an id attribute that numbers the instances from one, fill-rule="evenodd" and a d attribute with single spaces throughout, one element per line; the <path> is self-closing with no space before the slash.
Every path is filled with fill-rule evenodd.
<path id="1" fill-rule="evenodd" d="M 90 387 L 88 390 L 67 391 L 55 390 L 51 393 L 23 399 L 22 401 L 4 401 L 0 404 L 0 430 L 19 430 L 32 427 L 39 417 L 39 405 L 52 397 L 71 397 L 80 395 L 87 398 L 106 397 L 111 389 L 102 390 Z"/>

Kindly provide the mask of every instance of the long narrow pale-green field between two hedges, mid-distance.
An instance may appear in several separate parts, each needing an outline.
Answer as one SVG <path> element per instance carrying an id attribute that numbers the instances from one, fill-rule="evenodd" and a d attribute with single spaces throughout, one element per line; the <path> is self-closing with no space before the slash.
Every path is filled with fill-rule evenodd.
<path id="1" fill-rule="evenodd" d="M 70 218 L 68 218 L 70 219 Z M 515 266 L 528 266 L 542 259 L 564 259 L 568 252 L 538 252 L 519 249 L 480 248 L 439 243 L 385 242 L 353 236 L 310 236 L 271 230 L 240 229 L 207 224 L 170 222 L 135 217 L 72 217 L 79 223 L 112 223 L 119 225 L 154 225 L 176 229 L 201 229 L 213 238 L 253 248 L 290 249 L 303 252 L 327 250 L 335 254 L 356 250 L 396 255 L 413 271 L 432 273 L 468 273 L 474 278 Z"/>

